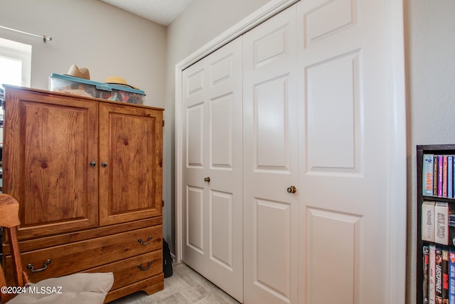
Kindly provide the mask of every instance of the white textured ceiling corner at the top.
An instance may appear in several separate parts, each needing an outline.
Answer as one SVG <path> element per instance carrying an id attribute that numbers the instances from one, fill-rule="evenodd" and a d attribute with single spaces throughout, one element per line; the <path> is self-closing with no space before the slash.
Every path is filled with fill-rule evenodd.
<path id="1" fill-rule="evenodd" d="M 193 0 L 101 0 L 145 19 L 168 26 Z"/>

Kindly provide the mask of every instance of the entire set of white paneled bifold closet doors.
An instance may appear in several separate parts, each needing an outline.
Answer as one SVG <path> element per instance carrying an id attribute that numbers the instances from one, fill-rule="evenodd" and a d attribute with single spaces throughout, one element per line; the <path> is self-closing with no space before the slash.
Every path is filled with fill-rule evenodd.
<path id="1" fill-rule="evenodd" d="M 404 303 L 393 3 L 302 0 L 183 71 L 183 261 L 240 302 Z"/>

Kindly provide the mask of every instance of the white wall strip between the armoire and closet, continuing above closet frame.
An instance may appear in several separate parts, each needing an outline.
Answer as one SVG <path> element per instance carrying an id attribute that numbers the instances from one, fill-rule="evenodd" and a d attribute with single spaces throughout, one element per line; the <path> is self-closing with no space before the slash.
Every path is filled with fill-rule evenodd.
<path id="1" fill-rule="evenodd" d="M 235 25 L 269 0 L 194 0 L 168 26 L 168 60 L 166 65 L 166 127 L 164 130 L 165 229 L 164 238 L 175 252 L 174 209 L 174 112 L 175 67 L 184 58 Z M 169 225 L 169 223 L 172 223 Z"/>

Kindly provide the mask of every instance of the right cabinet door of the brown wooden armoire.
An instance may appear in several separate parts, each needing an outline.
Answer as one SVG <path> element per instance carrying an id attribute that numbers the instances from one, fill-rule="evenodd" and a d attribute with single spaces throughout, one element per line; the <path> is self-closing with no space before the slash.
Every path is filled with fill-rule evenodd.
<path id="1" fill-rule="evenodd" d="M 161 215 L 162 110 L 100 103 L 100 225 Z"/>

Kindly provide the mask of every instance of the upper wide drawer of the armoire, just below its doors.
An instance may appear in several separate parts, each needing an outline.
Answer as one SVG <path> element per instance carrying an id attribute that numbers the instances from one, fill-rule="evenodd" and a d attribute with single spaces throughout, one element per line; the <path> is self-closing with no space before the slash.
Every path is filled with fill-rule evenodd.
<path id="1" fill-rule="evenodd" d="M 121 234 L 112 234 L 62 246 L 53 246 L 21 253 L 24 271 L 31 282 L 64 276 L 149 253 L 162 246 L 162 226 L 147 227 Z M 19 244 L 19 247 L 21 245 Z M 46 261 L 49 261 L 45 265 Z M 11 256 L 6 256 L 6 280 L 12 279 Z M 28 267 L 31 264 L 33 270 Z M 40 270 L 41 269 L 41 270 Z M 40 271 L 37 271 L 40 270 Z"/>

